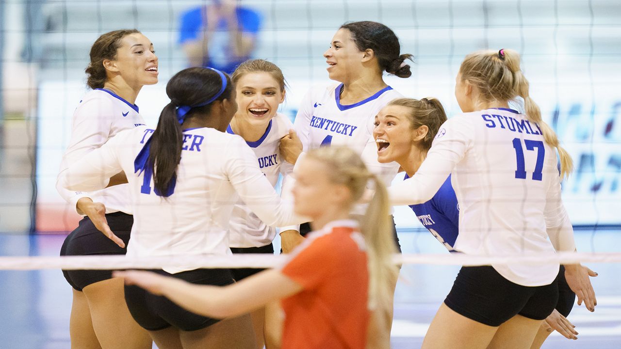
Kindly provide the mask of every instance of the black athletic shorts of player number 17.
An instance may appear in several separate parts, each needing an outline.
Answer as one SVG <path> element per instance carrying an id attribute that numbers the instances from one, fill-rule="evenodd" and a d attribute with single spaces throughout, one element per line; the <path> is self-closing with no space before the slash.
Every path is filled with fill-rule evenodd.
<path id="1" fill-rule="evenodd" d="M 556 280 L 546 286 L 512 283 L 491 266 L 463 266 L 444 304 L 468 319 L 500 326 L 519 314 L 543 320 L 558 301 Z"/>

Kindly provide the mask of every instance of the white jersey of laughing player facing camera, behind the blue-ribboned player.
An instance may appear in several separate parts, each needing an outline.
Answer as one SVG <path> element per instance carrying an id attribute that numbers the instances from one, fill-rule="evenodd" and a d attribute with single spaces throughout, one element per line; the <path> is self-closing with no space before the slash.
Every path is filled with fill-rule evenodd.
<path id="1" fill-rule="evenodd" d="M 256 142 L 246 142 L 255 152 L 258 166 L 272 186 L 276 186 L 279 174 L 282 173 L 283 181 L 286 181 L 293 170 L 293 165 L 281 158 L 279 150 L 280 138 L 289 134 L 292 129 L 293 124 L 288 117 L 276 114 L 270 120 L 263 137 Z M 234 134 L 230 126 L 227 132 Z M 266 225 L 243 201 L 235 205 L 230 221 L 230 247 L 261 247 L 269 245 L 274 237 L 276 229 Z"/>

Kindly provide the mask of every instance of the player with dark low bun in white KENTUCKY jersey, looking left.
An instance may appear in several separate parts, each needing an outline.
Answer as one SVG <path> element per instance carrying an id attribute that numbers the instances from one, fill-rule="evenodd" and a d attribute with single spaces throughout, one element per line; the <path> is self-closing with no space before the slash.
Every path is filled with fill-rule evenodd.
<path id="1" fill-rule="evenodd" d="M 330 79 L 338 84 L 312 88 L 302 100 L 294 126 L 296 134 L 283 138 L 288 146 L 299 138 L 302 148 L 283 150 L 286 161 L 295 164 L 302 151 L 327 145 L 347 145 L 363 157 L 367 167 L 389 185 L 397 174 L 395 163 L 377 161 L 373 136 L 373 117 L 389 101 L 401 97 L 388 86 L 383 72 L 408 78 L 412 73 L 405 63 L 412 55 L 401 54 L 399 39 L 389 27 L 378 22 L 363 21 L 343 24 L 324 52 Z M 360 214 L 362 212 L 359 212 Z M 281 229 L 283 252 L 289 252 L 309 230 L 302 225 Z M 394 237 L 399 239 L 394 230 Z"/>

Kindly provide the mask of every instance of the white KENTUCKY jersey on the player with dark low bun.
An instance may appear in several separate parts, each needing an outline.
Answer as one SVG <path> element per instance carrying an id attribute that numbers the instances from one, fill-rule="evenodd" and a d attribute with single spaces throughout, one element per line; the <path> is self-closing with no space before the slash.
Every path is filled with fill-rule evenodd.
<path id="1" fill-rule="evenodd" d="M 345 145 L 360 154 L 369 171 L 390 185 L 399 170 L 395 162 L 378 162 L 378 147 L 373 138 L 375 116 L 388 102 L 403 97 L 390 86 L 355 104 L 340 104 L 343 84 L 312 88 L 297 112 L 294 122 L 304 151 L 325 145 Z"/>

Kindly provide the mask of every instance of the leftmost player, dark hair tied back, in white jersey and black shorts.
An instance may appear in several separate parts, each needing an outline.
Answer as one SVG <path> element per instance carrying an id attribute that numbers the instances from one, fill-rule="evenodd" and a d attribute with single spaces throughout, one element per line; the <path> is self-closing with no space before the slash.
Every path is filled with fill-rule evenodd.
<path id="1" fill-rule="evenodd" d="M 135 100 L 142 86 L 158 81 L 153 44 L 138 30 L 101 35 L 93 43 L 90 57 L 86 75 L 93 91 L 73 113 L 71 140 L 61 170 L 89 156 L 120 131 L 144 124 Z M 127 186 L 89 193 L 69 191 L 58 184 L 57 189 L 84 217 L 66 237 L 60 255 L 125 254 L 133 222 Z M 122 301 L 122 281 L 112 279 L 111 271 L 63 270 L 63 274 L 73 287 L 72 348 L 151 348 L 148 333 L 132 319 Z"/>

